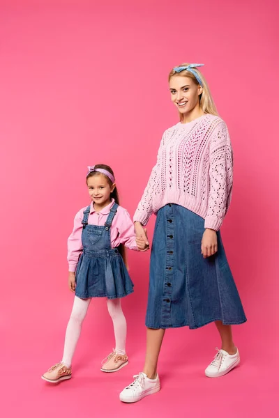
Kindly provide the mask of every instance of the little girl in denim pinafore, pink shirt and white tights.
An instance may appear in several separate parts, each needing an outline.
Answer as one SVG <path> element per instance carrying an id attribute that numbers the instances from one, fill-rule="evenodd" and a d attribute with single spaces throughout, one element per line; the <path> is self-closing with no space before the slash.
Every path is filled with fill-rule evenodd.
<path id="1" fill-rule="evenodd" d="M 68 285 L 75 292 L 75 300 L 63 359 L 42 376 L 51 383 L 72 377 L 72 358 L 92 297 L 107 297 L 107 309 L 114 324 L 115 349 L 103 362 L 101 371 L 118 371 L 128 364 L 126 318 L 120 299 L 133 292 L 133 283 L 123 261 L 123 245 L 142 250 L 147 245 L 143 239 L 135 242 L 134 224 L 126 209 L 119 206 L 112 169 L 103 164 L 88 168 L 86 183 L 92 202 L 77 212 L 68 239 Z"/>

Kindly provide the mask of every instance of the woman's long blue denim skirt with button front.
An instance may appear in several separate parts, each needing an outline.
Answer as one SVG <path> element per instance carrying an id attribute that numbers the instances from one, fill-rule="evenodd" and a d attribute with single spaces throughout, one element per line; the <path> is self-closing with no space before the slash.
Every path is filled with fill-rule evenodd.
<path id="1" fill-rule="evenodd" d="M 218 252 L 201 254 L 204 219 L 169 203 L 157 213 L 150 261 L 146 327 L 202 327 L 246 322 L 220 231 Z"/>

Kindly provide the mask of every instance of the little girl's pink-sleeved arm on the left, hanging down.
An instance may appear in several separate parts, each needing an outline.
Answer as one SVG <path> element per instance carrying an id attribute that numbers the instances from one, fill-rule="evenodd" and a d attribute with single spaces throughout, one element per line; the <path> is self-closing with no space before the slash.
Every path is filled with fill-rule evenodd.
<path id="1" fill-rule="evenodd" d="M 77 261 L 82 253 L 82 218 L 83 209 L 75 215 L 73 232 L 68 238 L 69 272 L 75 272 Z"/>

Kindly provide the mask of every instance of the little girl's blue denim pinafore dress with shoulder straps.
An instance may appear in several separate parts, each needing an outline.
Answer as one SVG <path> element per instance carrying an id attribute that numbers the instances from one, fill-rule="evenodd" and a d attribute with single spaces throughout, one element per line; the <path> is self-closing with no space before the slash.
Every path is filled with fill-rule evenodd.
<path id="1" fill-rule="evenodd" d="M 89 225 L 90 206 L 82 219 L 83 251 L 77 263 L 75 295 L 81 299 L 116 299 L 133 292 L 126 265 L 117 248 L 112 249 L 110 229 L 118 205 L 114 203 L 104 226 Z"/>

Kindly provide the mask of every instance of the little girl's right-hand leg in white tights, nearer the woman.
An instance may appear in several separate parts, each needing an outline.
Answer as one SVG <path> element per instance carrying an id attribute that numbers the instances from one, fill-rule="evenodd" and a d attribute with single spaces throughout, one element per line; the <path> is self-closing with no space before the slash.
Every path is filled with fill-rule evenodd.
<path id="1" fill-rule="evenodd" d="M 127 323 L 123 314 L 120 299 L 107 299 L 107 309 L 114 325 L 115 351 L 126 354 Z"/>

